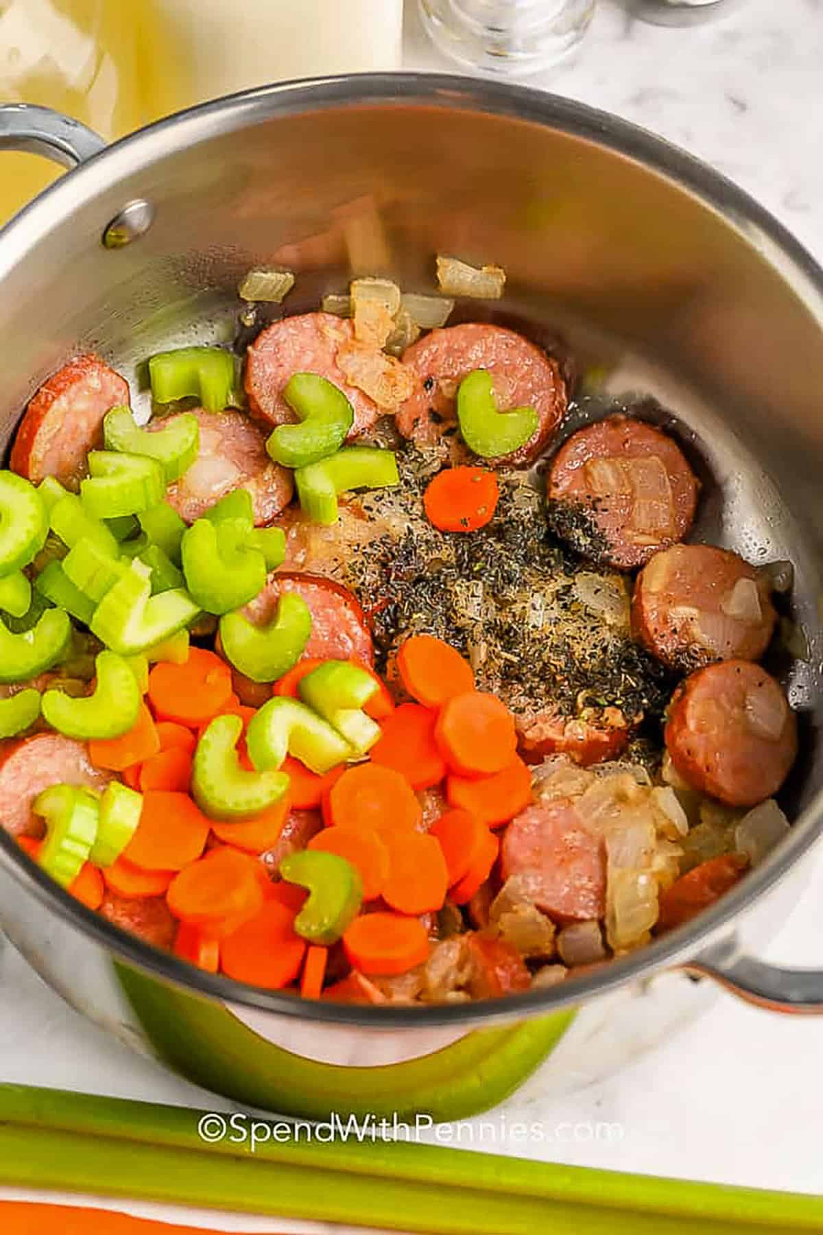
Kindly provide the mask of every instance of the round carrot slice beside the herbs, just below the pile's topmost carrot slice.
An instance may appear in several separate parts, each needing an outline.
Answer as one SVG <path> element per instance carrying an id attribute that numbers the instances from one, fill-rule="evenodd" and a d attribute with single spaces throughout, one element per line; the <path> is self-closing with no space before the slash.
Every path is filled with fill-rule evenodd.
<path id="1" fill-rule="evenodd" d="M 481 690 L 454 695 L 440 709 L 434 737 L 458 776 L 494 776 L 515 761 L 515 718 L 505 703 Z"/>

